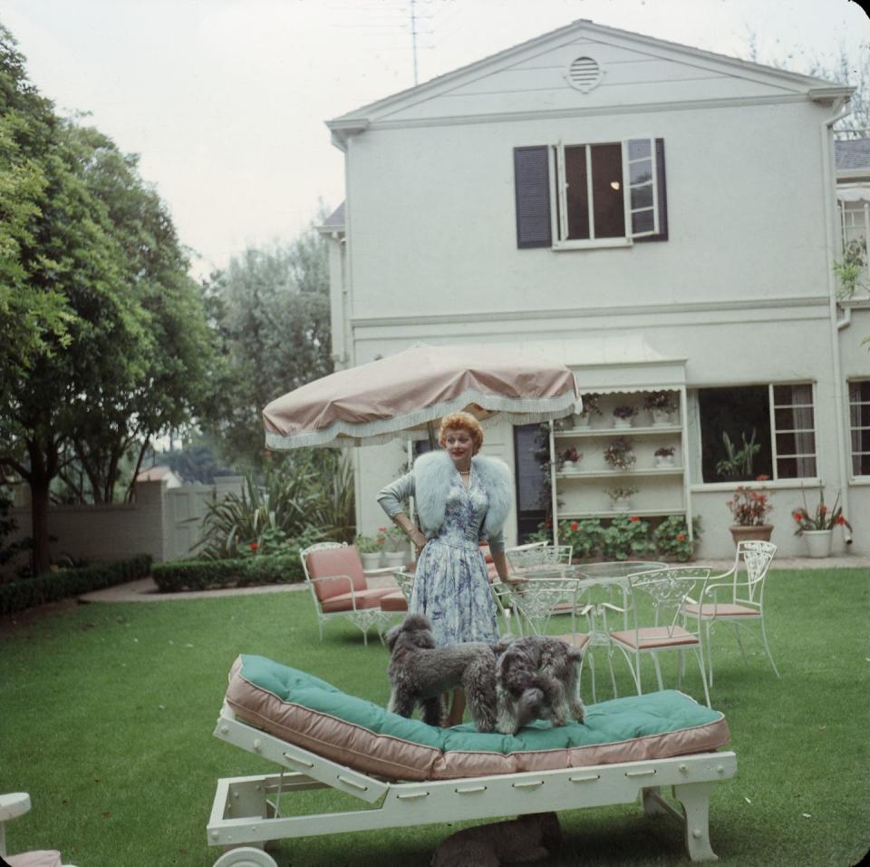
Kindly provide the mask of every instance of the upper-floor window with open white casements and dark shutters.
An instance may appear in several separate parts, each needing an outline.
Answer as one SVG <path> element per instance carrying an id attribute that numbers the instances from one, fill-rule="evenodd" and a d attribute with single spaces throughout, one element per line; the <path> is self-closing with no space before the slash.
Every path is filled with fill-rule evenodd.
<path id="1" fill-rule="evenodd" d="M 520 248 L 667 239 L 662 139 L 516 148 L 514 178 Z"/>

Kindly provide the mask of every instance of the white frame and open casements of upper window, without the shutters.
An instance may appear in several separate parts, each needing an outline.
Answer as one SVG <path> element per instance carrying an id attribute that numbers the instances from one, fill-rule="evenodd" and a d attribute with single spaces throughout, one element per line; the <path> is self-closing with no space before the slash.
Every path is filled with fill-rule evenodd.
<path id="1" fill-rule="evenodd" d="M 634 143 L 643 143 L 646 145 L 647 153 L 641 157 L 629 158 L 631 146 Z M 622 195 L 623 195 L 623 219 L 625 223 L 625 235 L 622 238 L 595 238 L 595 220 L 594 220 L 594 192 L 592 183 L 592 148 L 597 144 L 619 144 L 622 148 L 623 157 L 623 180 L 622 180 Z M 589 238 L 588 239 L 569 239 L 568 234 L 568 213 L 567 213 L 567 189 L 568 181 L 565 177 L 565 147 L 569 148 L 584 148 L 586 161 L 586 209 L 589 216 Z M 550 161 L 550 176 L 554 178 L 556 194 L 553 196 L 552 205 L 552 237 L 555 239 L 553 249 L 588 249 L 588 248 L 607 248 L 607 247 L 630 247 L 636 238 L 648 238 L 652 235 L 657 235 L 660 231 L 659 225 L 659 167 L 658 158 L 655 149 L 655 138 L 651 135 L 633 135 L 628 139 L 617 141 L 585 141 L 577 144 L 565 144 L 563 141 L 557 141 L 556 144 L 549 148 Z M 648 161 L 650 163 L 651 177 L 650 180 L 644 180 L 640 183 L 632 183 L 631 169 L 632 166 L 641 162 Z M 639 190 L 643 187 L 652 187 L 652 206 L 644 205 L 642 208 L 632 207 L 632 190 Z M 633 216 L 643 211 L 652 210 L 652 229 L 646 231 L 634 232 Z"/>

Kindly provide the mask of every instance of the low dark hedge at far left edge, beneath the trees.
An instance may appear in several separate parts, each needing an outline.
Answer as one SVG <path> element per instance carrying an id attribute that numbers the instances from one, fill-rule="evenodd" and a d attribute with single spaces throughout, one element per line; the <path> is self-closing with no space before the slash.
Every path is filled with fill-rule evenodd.
<path id="1" fill-rule="evenodd" d="M 130 560 L 97 563 L 81 569 L 45 572 L 35 578 L 24 578 L 0 584 L 0 615 L 56 602 L 68 596 L 90 593 L 115 584 L 147 578 L 151 570 L 150 554 L 139 554 Z"/>

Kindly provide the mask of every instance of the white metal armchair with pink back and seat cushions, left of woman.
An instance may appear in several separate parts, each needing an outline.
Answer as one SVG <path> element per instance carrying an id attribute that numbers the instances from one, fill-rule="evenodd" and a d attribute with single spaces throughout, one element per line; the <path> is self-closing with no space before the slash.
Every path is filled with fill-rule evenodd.
<path id="1" fill-rule="evenodd" d="M 381 637 L 385 620 L 381 599 L 394 589 L 370 587 L 367 578 L 389 575 L 390 568 L 363 570 L 359 551 L 346 542 L 317 542 L 300 551 L 305 583 L 311 590 L 320 640 L 324 640 L 324 623 L 344 618 L 362 629 L 362 642 L 368 644 L 369 628 Z"/>

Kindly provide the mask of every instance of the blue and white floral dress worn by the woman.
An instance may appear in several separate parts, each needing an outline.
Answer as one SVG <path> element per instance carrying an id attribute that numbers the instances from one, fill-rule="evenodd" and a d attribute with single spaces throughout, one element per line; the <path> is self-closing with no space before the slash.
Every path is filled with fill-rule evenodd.
<path id="1" fill-rule="evenodd" d="M 420 551 L 408 610 L 430 619 L 439 647 L 498 640 L 487 564 L 478 545 L 488 504 L 473 469 L 468 490 L 455 473 L 444 523 Z"/>

